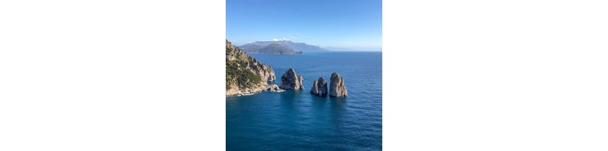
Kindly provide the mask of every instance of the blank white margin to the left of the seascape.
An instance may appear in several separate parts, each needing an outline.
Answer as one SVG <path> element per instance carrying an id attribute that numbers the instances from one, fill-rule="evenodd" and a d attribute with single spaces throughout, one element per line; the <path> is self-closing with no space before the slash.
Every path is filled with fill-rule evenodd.
<path id="1" fill-rule="evenodd" d="M 224 1 L 0 1 L 0 150 L 224 150 Z"/>

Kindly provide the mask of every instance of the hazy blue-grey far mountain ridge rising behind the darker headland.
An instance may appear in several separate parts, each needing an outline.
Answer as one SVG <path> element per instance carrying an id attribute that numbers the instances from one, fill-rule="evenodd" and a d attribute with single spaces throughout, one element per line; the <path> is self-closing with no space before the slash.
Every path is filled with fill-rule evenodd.
<path id="1" fill-rule="evenodd" d="M 270 44 L 282 45 L 293 51 L 303 51 L 303 52 L 327 51 L 327 49 L 323 49 L 319 46 L 307 45 L 305 43 L 300 43 L 300 42 L 292 42 L 291 40 L 256 41 L 256 42 L 251 42 L 251 43 L 248 43 L 245 45 L 241 45 L 239 48 L 243 49 L 243 50 L 245 50 L 246 48 L 260 49 L 260 47 L 266 47 Z"/>

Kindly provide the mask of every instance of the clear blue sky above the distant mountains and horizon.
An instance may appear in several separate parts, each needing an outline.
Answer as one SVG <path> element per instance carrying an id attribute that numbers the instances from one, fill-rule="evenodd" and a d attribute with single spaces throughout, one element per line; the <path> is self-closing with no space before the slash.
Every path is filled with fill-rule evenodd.
<path id="1" fill-rule="evenodd" d="M 381 0 L 226 0 L 235 45 L 291 40 L 319 47 L 382 49 Z"/>

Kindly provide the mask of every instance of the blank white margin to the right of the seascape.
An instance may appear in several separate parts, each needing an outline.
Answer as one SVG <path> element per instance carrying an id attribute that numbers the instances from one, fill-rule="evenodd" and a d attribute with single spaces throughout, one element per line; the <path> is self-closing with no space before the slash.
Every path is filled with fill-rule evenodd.
<path id="1" fill-rule="evenodd" d="M 383 149 L 608 150 L 605 1 L 383 1 Z"/>

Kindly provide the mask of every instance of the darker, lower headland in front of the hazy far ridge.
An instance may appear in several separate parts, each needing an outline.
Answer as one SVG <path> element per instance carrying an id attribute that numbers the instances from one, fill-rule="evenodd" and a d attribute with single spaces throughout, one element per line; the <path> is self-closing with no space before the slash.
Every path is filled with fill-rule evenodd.
<path id="1" fill-rule="evenodd" d="M 243 45 L 239 47 L 249 54 L 303 54 L 302 51 L 294 51 L 286 46 L 272 43 L 267 46 Z"/>

